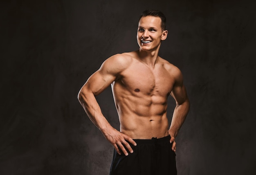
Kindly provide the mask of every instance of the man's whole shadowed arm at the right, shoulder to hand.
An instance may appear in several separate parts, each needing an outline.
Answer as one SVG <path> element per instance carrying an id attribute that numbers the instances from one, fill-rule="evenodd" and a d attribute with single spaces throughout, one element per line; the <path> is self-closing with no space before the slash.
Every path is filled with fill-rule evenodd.
<path id="1" fill-rule="evenodd" d="M 182 73 L 180 70 L 175 73 L 175 83 L 173 85 L 171 96 L 173 96 L 176 101 L 176 107 L 173 111 L 170 129 L 168 130 L 171 135 L 170 142 L 173 142 L 172 150 L 174 152 L 176 151 L 176 143 L 174 139 L 177 137 L 178 132 L 186 119 L 186 115 L 189 113 L 189 98 L 186 94 L 186 88 L 183 85 Z"/>

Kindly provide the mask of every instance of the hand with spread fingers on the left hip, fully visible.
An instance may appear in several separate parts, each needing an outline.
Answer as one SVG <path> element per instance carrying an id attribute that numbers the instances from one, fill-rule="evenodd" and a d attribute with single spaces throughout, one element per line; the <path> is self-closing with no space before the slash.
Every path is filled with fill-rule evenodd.
<path id="1" fill-rule="evenodd" d="M 130 151 L 130 153 L 133 153 L 133 150 L 127 141 L 129 141 L 134 146 L 137 145 L 135 141 L 132 140 L 132 138 L 119 132 L 115 128 L 108 130 L 107 133 L 104 134 L 104 136 L 114 146 L 115 150 L 117 150 L 117 153 L 119 155 L 121 155 L 121 151 L 124 153 L 124 155 L 126 156 L 128 155 L 128 152 L 126 151 L 124 146 L 126 146 L 126 148 Z"/>

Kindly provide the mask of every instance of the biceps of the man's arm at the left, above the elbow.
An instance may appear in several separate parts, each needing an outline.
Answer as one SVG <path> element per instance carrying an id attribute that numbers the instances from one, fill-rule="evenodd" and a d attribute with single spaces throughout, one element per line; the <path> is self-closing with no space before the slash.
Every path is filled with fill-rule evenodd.
<path id="1" fill-rule="evenodd" d="M 102 74 L 101 72 L 97 71 L 89 77 L 88 81 L 84 85 L 84 88 L 90 90 L 95 96 L 97 96 L 114 80 L 115 76 L 112 76 L 111 74 Z"/>

